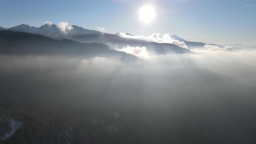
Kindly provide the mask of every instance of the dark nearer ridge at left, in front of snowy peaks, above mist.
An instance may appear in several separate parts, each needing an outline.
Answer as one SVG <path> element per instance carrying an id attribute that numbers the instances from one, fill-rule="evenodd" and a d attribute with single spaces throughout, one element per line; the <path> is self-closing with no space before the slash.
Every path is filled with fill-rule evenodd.
<path id="1" fill-rule="evenodd" d="M 0 31 L 1 54 L 64 54 L 90 56 L 124 56 L 126 59 L 138 59 L 125 52 L 115 51 L 103 43 L 79 43 L 69 39 L 52 39 L 46 36 Z"/>

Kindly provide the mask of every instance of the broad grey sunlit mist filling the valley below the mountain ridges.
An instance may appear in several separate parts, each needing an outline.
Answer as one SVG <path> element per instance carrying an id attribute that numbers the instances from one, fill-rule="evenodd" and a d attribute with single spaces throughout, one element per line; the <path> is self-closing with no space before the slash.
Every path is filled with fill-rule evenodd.
<path id="1" fill-rule="evenodd" d="M 135 143 L 255 141 L 255 53 L 207 51 L 133 62 L 121 58 L 2 55 L 0 104 L 36 111 L 48 121 L 87 118 L 92 124 L 115 125 L 113 113 L 118 113 L 115 127 L 121 133 L 121 124 L 135 126 L 133 139 L 127 140 Z M 115 142 L 125 136 L 116 135 Z"/>

